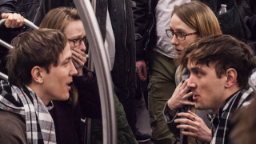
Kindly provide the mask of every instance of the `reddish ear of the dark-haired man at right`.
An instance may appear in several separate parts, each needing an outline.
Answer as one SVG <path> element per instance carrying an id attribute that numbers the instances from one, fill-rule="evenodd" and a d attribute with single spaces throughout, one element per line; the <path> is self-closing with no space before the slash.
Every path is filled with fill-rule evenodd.
<path id="1" fill-rule="evenodd" d="M 225 87 L 231 87 L 237 82 L 238 73 L 237 70 L 234 70 L 233 68 L 229 68 L 226 70 L 226 82 Z"/>

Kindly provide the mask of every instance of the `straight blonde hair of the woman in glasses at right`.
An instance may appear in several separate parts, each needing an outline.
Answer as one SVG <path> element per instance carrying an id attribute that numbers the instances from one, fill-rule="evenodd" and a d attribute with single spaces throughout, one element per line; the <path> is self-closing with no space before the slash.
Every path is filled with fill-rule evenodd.
<path id="1" fill-rule="evenodd" d="M 174 11 L 171 15 L 173 16 L 174 14 L 187 26 L 197 30 L 200 38 L 222 34 L 214 12 L 202 2 L 192 1 L 181 6 L 174 6 Z M 176 60 L 175 63 L 179 64 L 180 62 Z M 180 67 L 178 78 L 182 76 L 182 70 L 184 70 L 183 66 Z"/>

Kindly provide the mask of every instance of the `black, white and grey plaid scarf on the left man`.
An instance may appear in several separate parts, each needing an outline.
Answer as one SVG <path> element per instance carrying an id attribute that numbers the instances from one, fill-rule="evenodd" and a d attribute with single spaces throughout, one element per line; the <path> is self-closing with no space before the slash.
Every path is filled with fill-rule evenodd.
<path id="1" fill-rule="evenodd" d="M 26 121 L 26 142 L 28 144 L 56 143 L 54 121 L 41 99 L 29 87 L 19 89 L 9 82 L 0 82 L 0 109 L 19 114 Z"/>

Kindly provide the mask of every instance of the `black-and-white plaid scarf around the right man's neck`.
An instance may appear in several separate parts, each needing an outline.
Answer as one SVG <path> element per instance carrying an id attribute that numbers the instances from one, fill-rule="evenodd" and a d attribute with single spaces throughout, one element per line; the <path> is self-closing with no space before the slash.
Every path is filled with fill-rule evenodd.
<path id="1" fill-rule="evenodd" d="M 222 104 L 216 115 L 209 115 L 213 128 L 213 139 L 211 144 L 225 144 L 228 142 L 230 134 L 230 118 L 234 110 L 250 104 L 250 99 L 254 90 L 250 87 L 248 90 L 238 90 L 231 95 Z"/>

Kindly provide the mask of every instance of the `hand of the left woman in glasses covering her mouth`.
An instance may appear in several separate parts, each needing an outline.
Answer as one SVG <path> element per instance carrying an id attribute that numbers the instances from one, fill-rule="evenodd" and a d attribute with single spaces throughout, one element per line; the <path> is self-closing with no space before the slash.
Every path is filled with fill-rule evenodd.
<path id="1" fill-rule="evenodd" d="M 82 67 L 87 62 L 86 53 L 82 50 L 74 49 L 72 51 L 72 62 L 74 63 L 74 67 L 78 70 L 78 74 L 76 76 L 82 76 Z"/>

